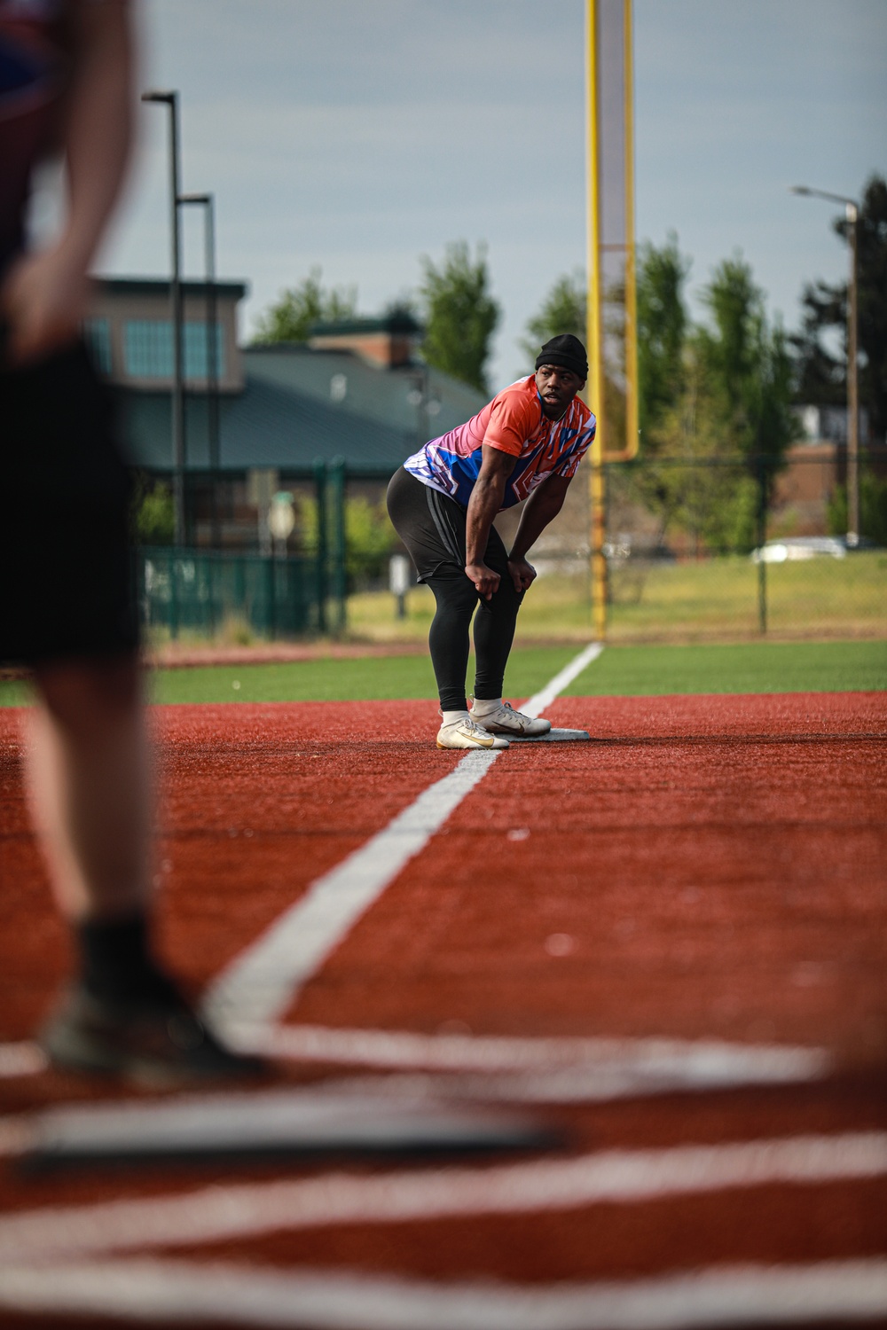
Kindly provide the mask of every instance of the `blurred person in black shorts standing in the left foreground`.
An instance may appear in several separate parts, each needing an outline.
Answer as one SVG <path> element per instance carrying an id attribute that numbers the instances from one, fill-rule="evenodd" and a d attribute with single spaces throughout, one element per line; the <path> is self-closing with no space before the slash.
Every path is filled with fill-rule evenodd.
<path id="1" fill-rule="evenodd" d="M 33 821 L 80 956 L 43 1031 L 60 1067 L 154 1084 L 253 1073 L 152 955 L 152 791 L 130 491 L 80 326 L 130 154 L 126 0 L 0 0 L 0 661 L 37 702 Z M 33 169 L 64 156 L 66 217 L 25 241 Z M 39 529 L 37 529 L 39 515 Z"/>

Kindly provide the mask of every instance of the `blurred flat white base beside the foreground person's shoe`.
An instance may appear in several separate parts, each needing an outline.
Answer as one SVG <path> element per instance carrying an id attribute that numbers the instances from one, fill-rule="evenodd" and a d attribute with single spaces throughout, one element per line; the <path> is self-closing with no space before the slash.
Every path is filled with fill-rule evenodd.
<path id="1" fill-rule="evenodd" d="M 442 1105 L 423 1093 L 386 1099 L 278 1089 L 63 1105 L 0 1120 L 0 1150 L 40 1168 L 222 1156 L 434 1154 L 553 1144 L 553 1134 L 525 1116 Z"/>

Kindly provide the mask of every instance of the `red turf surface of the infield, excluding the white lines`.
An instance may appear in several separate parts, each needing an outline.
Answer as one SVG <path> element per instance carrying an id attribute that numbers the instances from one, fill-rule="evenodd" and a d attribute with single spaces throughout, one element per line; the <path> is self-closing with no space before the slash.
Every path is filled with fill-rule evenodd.
<path id="1" fill-rule="evenodd" d="M 843 1068 L 819 1085 L 552 1111 L 577 1149 L 883 1130 L 883 694 L 567 698 L 549 714 L 588 729 L 593 742 L 504 753 L 289 1019 L 787 1041 L 824 1045 Z M 427 702 L 177 706 L 154 718 L 160 934 L 195 988 L 459 761 L 434 747 Z M 28 1037 L 68 963 L 27 825 L 16 726 L 15 712 L 0 712 L 5 1040 Z M 555 934 L 570 939 L 565 955 L 547 950 Z M 51 1073 L 0 1085 L 7 1112 L 96 1092 Z M 7 1168 L 0 1197 L 4 1208 L 33 1209 L 168 1194 L 211 1177 L 226 1172 L 23 1178 Z M 886 1208 L 882 1177 L 588 1212 L 344 1225 L 191 1254 L 453 1278 L 624 1278 L 883 1252 Z M 72 1322 L 40 1319 L 56 1323 Z"/>

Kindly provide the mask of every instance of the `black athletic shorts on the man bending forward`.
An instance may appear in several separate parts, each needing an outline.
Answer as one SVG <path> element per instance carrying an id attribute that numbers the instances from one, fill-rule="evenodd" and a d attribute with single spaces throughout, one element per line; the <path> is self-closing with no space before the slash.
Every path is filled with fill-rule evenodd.
<path id="1" fill-rule="evenodd" d="M 453 565 L 465 571 L 467 508 L 449 495 L 423 485 L 400 467 L 388 484 L 388 516 L 412 556 L 419 581 Z M 508 573 L 508 555 L 501 536 L 489 528 L 484 563 L 500 576 Z"/>

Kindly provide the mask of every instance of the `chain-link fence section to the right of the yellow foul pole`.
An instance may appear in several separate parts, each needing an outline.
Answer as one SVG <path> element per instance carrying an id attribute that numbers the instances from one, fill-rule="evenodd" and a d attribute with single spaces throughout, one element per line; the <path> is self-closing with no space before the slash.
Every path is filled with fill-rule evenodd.
<path id="1" fill-rule="evenodd" d="M 852 545 L 839 463 L 606 467 L 610 637 L 887 636 L 887 479 L 864 468 Z"/>

